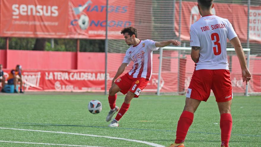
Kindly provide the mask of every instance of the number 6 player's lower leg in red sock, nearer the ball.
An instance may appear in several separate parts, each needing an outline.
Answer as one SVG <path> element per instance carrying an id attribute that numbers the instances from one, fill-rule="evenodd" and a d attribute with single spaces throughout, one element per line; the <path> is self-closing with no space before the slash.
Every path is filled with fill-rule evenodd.
<path id="1" fill-rule="evenodd" d="M 109 111 L 106 121 L 112 120 L 113 115 L 119 110 L 119 107 L 116 106 L 116 99 L 117 99 L 117 92 L 121 91 L 120 87 L 116 84 L 113 84 L 112 87 L 109 89 L 109 105 L 111 110 Z"/>

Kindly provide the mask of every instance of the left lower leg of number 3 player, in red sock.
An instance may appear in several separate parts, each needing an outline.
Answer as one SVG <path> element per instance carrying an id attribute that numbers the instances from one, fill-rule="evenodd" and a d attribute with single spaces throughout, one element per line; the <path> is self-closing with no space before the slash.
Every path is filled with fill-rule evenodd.
<path id="1" fill-rule="evenodd" d="M 170 147 L 184 147 L 184 140 L 189 130 L 190 125 L 193 122 L 194 113 L 197 110 L 200 100 L 186 98 L 186 104 L 184 110 L 179 118 L 177 131 L 176 131 L 176 140 L 174 144 L 171 144 Z"/>

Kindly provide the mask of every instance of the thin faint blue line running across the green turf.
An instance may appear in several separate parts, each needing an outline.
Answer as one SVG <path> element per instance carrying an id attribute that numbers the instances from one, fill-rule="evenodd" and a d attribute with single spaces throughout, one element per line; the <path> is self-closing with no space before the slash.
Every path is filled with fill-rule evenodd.
<path id="1" fill-rule="evenodd" d="M 70 125 L 70 124 L 38 124 L 38 123 L 21 123 L 21 122 L 16 122 L 16 124 L 31 124 L 31 125 L 43 125 L 43 126 L 63 126 L 63 127 L 93 127 L 93 128 L 126 129 L 126 130 L 139 130 L 139 131 L 176 132 L 174 130 L 161 130 L 161 129 L 137 129 L 137 128 L 121 128 L 121 127 L 105 127 L 105 126 L 83 126 L 83 125 Z M 189 133 L 220 135 L 220 133 L 195 132 L 195 131 L 189 131 Z M 231 136 L 261 137 L 261 135 L 250 135 L 250 134 L 231 134 Z"/>

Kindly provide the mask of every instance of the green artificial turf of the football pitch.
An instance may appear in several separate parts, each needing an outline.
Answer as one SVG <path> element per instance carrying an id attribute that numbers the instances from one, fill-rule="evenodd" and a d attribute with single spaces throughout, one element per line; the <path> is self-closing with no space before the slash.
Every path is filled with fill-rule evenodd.
<path id="1" fill-rule="evenodd" d="M 94 115 L 87 110 L 88 102 L 93 99 L 98 99 L 102 103 L 103 109 L 99 114 Z M 116 105 L 120 107 L 123 101 L 124 96 L 118 95 Z M 141 94 L 138 99 L 132 100 L 129 110 L 119 121 L 119 127 L 109 128 L 107 126 L 110 122 L 106 122 L 105 118 L 110 108 L 107 96 L 104 95 L 0 95 L 0 146 L 59 146 L 1 142 L 14 141 L 100 147 L 151 147 L 144 143 L 83 134 L 140 140 L 169 146 L 174 142 L 177 122 L 184 104 L 184 96 Z M 231 111 L 233 129 L 230 147 L 260 146 L 260 96 L 234 96 Z M 210 97 L 208 102 L 201 102 L 195 112 L 185 146 L 220 147 L 219 118 L 214 97 Z"/>

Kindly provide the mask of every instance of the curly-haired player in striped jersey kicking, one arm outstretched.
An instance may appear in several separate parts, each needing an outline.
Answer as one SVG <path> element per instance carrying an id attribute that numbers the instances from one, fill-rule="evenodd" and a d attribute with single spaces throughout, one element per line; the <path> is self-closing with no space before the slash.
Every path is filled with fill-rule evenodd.
<path id="1" fill-rule="evenodd" d="M 118 121 L 129 109 L 130 101 L 133 97 L 139 97 L 141 91 L 147 86 L 152 74 L 152 51 L 169 44 L 181 45 L 181 42 L 177 40 L 161 42 L 149 39 L 140 40 L 137 38 L 137 30 L 133 27 L 122 29 L 121 34 L 124 35 L 125 42 L 127 45 L 130 45 L 130 48 L 126 51 L 123 62 L 112 80 L 112 87 L 109 90 L 108 98 L 111 110 L 106 117 L 106 121 L 110 121 L 114 113 L 119 110 L 119 107 L 115 106 L 117 92 L 120 91 L 122 94 L 126 94 L 126 96 L 116 118 L 109 124 L 109 127 L 119 126 Z M 130 61 L 134 62 L 132 69 L 118 78 Z"/>

